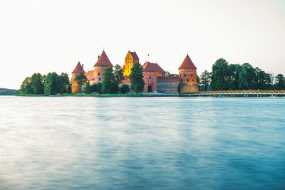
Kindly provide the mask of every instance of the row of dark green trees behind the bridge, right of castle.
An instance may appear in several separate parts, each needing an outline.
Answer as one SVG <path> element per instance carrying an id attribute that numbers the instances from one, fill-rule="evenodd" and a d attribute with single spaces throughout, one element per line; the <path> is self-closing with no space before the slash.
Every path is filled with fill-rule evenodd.
<path id="1" fill-rule="evenodd" d="M 200 90 L 285 90 L 284 75 L 276 76 L 249 63 L 229 64 L 219 58 L 212 73 L 204 70 L 197 77 Z"/>

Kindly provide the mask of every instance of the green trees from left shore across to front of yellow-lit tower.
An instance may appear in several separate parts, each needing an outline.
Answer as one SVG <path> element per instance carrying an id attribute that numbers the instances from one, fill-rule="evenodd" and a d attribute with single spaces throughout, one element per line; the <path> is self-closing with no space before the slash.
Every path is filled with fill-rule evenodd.
<path id="1" fill-rule="evenodd" d="M 142 93 L 144 89 L 143 70 L 140 63 L 135 63 L 131 69 L 129 76 L 131 89 L 135 93 Z M 115 70 L 112 67 L 106 67 L 103 73 L 102 83 L 93 83 L 90 85 L 87 82 L 86 75 L 84 73 L 76 74 L 74 80 L 78 85 L 85 85 L 83 92 L 86 94 L 100 93 L 100 94 L 115 94 L 115 93 L 128 93 L 130 88 L 128 85 L 122 85 L 119 88 L 120 83 L 125 78 L 123 77 L 123 70 L 120 65 L 115 65 Z M 69 80 L 67 73 L 48 73 L 48 75 L 41 75 L 41 73 L 34 73 L 31 77 L 25 78 L 21 84 L 21 88 L 17 92 L 18 94 L 33 94 L 33 95 L 57 95 L 63 93 L 71 93 L 71 80 Z"/>

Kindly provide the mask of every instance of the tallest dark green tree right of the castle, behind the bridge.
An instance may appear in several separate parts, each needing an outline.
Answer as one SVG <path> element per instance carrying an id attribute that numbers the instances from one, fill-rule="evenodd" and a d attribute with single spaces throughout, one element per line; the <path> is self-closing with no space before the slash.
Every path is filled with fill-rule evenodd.
<path id="1" fill-rule="evenodd" d="M 211 86 L 212 90 L 226 90 L 227 89 L 227 60 L 219 58 L 212 65 Z"/>

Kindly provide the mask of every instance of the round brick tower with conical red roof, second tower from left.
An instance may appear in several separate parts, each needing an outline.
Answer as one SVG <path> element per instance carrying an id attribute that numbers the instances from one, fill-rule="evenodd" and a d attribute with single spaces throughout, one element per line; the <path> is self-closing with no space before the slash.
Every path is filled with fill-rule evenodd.
<path id="1" fill-rule="evenodd" d="M 94 65 L 94 83 L 102 83 L 103 73 L 106 67 L 113 67 L 105 51 L 101 53 L 101 56 L 98 56 L 97 63 Z"/>

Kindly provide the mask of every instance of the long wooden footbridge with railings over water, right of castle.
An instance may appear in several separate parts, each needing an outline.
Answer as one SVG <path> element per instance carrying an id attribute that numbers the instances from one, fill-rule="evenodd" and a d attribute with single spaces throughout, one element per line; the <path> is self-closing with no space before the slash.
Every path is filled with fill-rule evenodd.
<path id="1" fill-rule="evenodd" d="M 209 97 L 263 97 L 263 96 L 285 96 L 285 90 L 217 90 L 199 91 L 183 96 L 209 96 Z"/>

